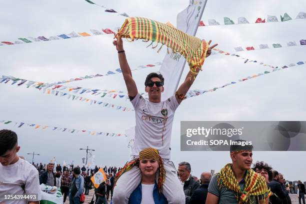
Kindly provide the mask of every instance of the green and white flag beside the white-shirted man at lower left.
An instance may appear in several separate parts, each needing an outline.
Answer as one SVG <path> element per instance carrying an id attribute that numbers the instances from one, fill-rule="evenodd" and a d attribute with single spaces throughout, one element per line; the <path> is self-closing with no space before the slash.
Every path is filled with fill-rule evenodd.
<path id="1" fill-rule="evenodd" d="M 46 184 L 40 185 L 41 200 L 40 204 L 62 204 L 63 198 L 60 188 L 56 186 L 49 186 Z"/>

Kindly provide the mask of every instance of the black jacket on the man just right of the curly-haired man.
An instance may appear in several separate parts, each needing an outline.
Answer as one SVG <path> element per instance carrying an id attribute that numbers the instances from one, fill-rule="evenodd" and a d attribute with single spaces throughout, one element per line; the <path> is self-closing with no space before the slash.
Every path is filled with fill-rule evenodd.
<path id="1" fill-rule="evenodd" d="M 289 193 L 287 190 L 283 190 L 280 182 L 275 179 L 272 179 L 267 184 L 267 186 L 275 195 L 277 195 L 277 197 L 275 195 L 270 196 L 269 201 L 271 202 L 271 204 L 287 203 L 287 196 Z"/>

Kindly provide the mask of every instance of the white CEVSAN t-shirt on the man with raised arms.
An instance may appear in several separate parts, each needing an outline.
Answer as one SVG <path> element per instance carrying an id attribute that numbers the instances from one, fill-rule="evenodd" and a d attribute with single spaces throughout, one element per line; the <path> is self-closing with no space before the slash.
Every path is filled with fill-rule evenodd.
<path id="1" fill-rule="evenodd" d="M 147 147 L 158 149 L 162 158 L 170 159 L 172 122 L 178 102 L 175 95 L 154 103 L 139 93 L 131 100 L 135 108 L 136 126 L 132 156 Z"/>

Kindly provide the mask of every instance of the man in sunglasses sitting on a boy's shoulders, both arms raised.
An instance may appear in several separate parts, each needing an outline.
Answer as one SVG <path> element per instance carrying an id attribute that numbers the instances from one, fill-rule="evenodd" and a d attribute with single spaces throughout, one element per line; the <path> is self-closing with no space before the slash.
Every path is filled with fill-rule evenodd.
<path id="1" fill-rule="evenodd" d="M 185 94 L 192 85 L 196 75 L 188 72 L 184 82 L 179 86 L 176 93 L 168 99 L 161 101 L 161 92 L 163 92 L 163 77 L 159 73 L 150 73 L 147 75 L 144 85 L 148 93 L 148 100 L 144 99 L 137 90 L 136 83 L 132 78 L 131 70 L 126 60 L 123 49 L 122 38 L 113 41 L 118 51 L 118 58 L 122 75 L 126 84 L 129 99 L 135 109 L 136 126 L 135 142 L 132 149 L 132 156 L 136 159 L 139 152 L 146 147 L 158 149 L 163 159 L 166 177 L 162 193 L 168 203 L 184 204 L 185 195 L 176 174 L 175 166 L 170 161 L 170 141 L 171 129 L 174 118 L 174 112 L 180 102 L 185 98 Z M 208 42 L 210 44 L 211 40 Z M 211 49 L 217 44 L 210 46 L 206 51 L 206 57 L 210 55 Z M 196 72 L 199 68 L 196 69 Z M 129 161 L 133 162 L 133 160 Z M 128 163 L 129 163 L 128 162 Z M 113 190 L 114 204 L 127 204 L 131 192 L 141 181 L 140 169 L 136 166 L 124 173 L 117 180 Z"/>

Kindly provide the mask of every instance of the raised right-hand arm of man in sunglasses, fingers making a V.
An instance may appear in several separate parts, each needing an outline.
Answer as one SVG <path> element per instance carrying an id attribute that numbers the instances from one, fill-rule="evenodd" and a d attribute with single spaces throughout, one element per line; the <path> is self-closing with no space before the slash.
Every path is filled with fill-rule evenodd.
<path id="1" fill-rule="evenodd" d="M 208 45 L 210 45 L 210 42 L 211 42 L 211 40 L 209 40 Z M 210 55 L 211 49 L 213 47 L 215 47 L 216 45 L 218 45 L 218 44 L 214 44 L 214 45 L 208 47 L 207 52 L 206 52 L 206 57 Z M 199 69 L 200 68 L 197 68 L 196 72 L 198 72 Z M 182 82 L 182 84 L 177 89 L 177 93 L 180 94 L 181 96 L 185 96 L 187 91 L 189 90 L 190 86 L 192 85 L 195 77 L 196 77 L 196 75 L 193 77 L 191 71 L 189 71 L 187 73 L 187 76 L 186 76 L 184 82 Z M 175 97 L 176 97 L 176 100 L 177 100 L 178 104 L 183 100 L 182 98 L 179 98 L 177 95 Z"/>

